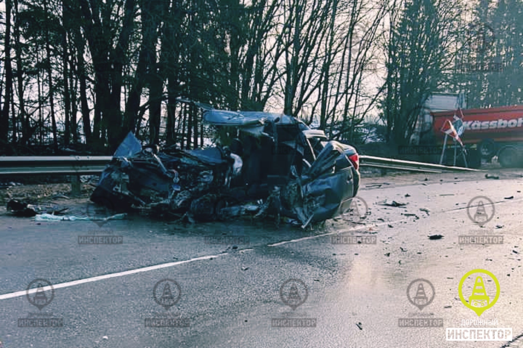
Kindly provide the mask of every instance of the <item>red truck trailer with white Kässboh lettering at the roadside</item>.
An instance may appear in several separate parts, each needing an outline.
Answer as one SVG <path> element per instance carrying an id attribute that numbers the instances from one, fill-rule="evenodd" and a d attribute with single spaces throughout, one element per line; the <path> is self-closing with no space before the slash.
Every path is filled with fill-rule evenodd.
<path id="1" fill-rule="evenodd" d="M 453 110 L 430 113 L 431 133 L 437 145 L 443 145 L 445 134 L 441 126 L 445 120 L 461 117 L 464 133 L 461 140 L 468 148 L 476 148 L 482 158 L 498 157 L 503 167 L 521 165 L 523 154 L 523 105 L 489 109 Z M 452 139 L 449 137 L 448 144 Z"/>

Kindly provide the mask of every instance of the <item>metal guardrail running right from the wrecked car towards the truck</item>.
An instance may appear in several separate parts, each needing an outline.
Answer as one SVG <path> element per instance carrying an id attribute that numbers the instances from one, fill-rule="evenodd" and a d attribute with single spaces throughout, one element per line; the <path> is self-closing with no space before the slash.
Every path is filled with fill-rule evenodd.
<path id="1" fill-rule="evenodd" d="M 482 171 L 479 169 L 463 168 L 463 167 L 449 167 L 431 163 L 414 162 L 402 159 L 374 157 L 374 156 L 360 156 L 361 167 L 376 167 L 395 170 L 409 170 L 422 171 L 431 173 L 450 172 L 466 172 L 466 171 Z"/>

